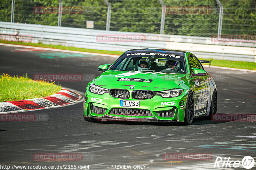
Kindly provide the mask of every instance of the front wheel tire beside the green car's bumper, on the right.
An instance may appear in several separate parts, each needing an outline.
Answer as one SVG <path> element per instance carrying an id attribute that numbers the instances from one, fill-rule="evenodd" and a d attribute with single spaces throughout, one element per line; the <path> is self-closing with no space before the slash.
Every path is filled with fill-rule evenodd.
<path id="1" fill-rule="evenodd" d="M 191 125 L 194 118 L 194 97 L 191 91 L 188 92 L 188 98 L 186 102 L 184 124 Z"/>

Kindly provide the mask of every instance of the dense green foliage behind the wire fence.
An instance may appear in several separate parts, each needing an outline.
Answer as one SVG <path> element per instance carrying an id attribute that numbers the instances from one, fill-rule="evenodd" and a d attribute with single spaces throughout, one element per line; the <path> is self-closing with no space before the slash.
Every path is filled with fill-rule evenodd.
<path id="1" fill-rule="evenodd" d="M 162 5 L 159 0 L 108 0 L 111 31 L 160 33 Z M 164 34 L 211 37 L 218 33 L 220 6 L 216 0 L 163 0 L 166 6 Z M 224 7 L 222 35 L 256 34 L 255 0 L 220 0 Z M 0 21 L 11 21 L 11 0 L 0 2 Z M 59 7 L 58 0 L 15 0 L 14 22 L 58 25 L 58 13 L 37 14 L 35 7 Z M 63 0 L 63 7 L 81 7 L 82 13 L 62 14 L 61 26 L 106 30 L 108 7 L 104 0 Z M 209 7 L 207 13 L 170 13 L 174 7 Z"/>

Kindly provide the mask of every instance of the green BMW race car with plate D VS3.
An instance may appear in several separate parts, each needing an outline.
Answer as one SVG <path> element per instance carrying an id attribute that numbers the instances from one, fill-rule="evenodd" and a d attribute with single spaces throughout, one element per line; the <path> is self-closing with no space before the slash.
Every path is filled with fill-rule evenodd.
<path id="1" fill-rule="evenodd" d="M 88 83 L 86 121 L 184 122 L 211 118 L 217 111 L 217 89 L 195 55 L 167 49 L 133 49 Z"/>

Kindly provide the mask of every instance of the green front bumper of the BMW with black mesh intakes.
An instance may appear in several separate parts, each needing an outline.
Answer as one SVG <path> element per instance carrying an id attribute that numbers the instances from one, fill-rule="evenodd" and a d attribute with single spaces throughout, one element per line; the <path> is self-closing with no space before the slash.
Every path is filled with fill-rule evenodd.
<path id="1" fill-rule="evenodd" d="M 181 96 L 163 98 L 154 96 L 151 99 L 120 99 L 108 93 L 98 95 L 86 91 L 84 117 L 104 120 L 140 121 L 140 122 L 184 122 L 188 90 Z M 140 107 L 121 107 L 120 100 L 140 101 Z M 180 102 L 183 101 L 183 107 Z"/>

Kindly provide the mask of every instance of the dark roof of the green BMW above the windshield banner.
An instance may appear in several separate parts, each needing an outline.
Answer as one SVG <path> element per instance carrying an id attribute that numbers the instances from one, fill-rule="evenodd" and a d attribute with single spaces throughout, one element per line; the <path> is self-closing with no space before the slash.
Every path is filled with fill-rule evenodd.
<path id="1" fill-rule="evenodd" d="M 174 55 L 184 56 L 186 51 L 142 48 L 142 49 L 131 49 L 126 51 L 125 53 L 165 53 L 165 54 L 174 54 Z"/>

